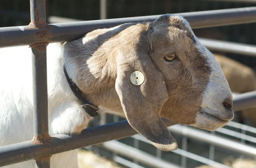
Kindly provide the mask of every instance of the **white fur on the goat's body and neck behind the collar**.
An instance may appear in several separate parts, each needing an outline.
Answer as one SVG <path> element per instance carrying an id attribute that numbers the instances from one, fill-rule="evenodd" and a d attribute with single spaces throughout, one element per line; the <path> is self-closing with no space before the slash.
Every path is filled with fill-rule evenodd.
<path id="1" fill-rule="evenodd" d="M 73 67 L 73 66 L 68 66 Z M 73 70 L 76 73 L 75 69 Z M 28 46 L 0 49 L 0 146 L 31 140 L 33 137 L 32 60 Z M 72 71 L 70 71 L 72 72 Z M 61 64 L 58 44 L 47 47 L 49 134 L 74 133 L 91 117 L 81 108 L 70 90 Z M 34 168 L 35 160 L 6 168 Z M 52 168 L 77 167 L 77 150 L 55 154 Z"/>

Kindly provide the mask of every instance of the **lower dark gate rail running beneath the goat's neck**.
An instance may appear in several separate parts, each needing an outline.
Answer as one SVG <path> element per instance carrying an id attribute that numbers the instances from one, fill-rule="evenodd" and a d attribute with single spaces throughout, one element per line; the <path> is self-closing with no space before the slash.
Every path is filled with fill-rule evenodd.
<path id="1" fill-rule="evenodd" d="M 163 121 L 167 126 L 175 124 L 170 120 L 163 119 Z M 130 137 L 134 134 L 137 134 L 137 132 L 129 125 L 127 120 L 123 120 L 84 129 L 80 135 L 58 134 L 52 136 L 52 141 L 47 144 L 35 144 L 32 141 L 26 141 L 2 146 L 0 147 L 0 166 Z"/>

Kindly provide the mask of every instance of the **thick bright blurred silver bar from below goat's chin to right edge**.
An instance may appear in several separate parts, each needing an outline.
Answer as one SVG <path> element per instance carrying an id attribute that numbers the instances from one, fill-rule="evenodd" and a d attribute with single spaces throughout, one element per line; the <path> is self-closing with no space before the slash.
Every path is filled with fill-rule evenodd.
<path id="1" fill-rule="evenodd" d="M 201 142 L 209 143 L 221 148 L 228 149 L 230 151 L 235 151 L 240 154 L 245 154 L 247 156 L 256 157 L 256 148 L 238 143 L 234 140 L 229 140 L 224 137 L 217 135 L 212 135 L 192 127 L 185 127 L 181 124 L 168 127 L 170 132 L 175 132 L 176 134 L 181 134 Z"/>

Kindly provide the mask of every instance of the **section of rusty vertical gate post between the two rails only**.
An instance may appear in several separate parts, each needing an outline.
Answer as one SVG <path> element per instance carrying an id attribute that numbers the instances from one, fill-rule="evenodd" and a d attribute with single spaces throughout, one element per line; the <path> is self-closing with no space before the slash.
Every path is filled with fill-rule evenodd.
<path id="1" fill-rule="evenodd" d="M 48 43 L 38 43 L 32 47 L 33 94 L 34 94 L 34 139 L 43 142 L 48 134 L 47 64 Z"/>

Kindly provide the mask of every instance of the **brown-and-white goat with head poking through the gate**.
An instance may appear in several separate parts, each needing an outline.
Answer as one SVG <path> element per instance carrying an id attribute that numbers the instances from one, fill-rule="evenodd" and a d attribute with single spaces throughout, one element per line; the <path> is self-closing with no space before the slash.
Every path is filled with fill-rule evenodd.
<path id="1" fill-rule="evenodd" d="M 0 146 L 33 137 L 31 57 L 28 47 L 0 50 Z M 79 134 L 93 119 L 82 97 L 129 124 L 164 151 L 177 143 L 160 117 L 213 131 L 234 117 L 232 92 L 212 53 L 177 15 L 98 29 L 47 47 L 49 134 Z M 66 77 L 64 73 L 66 71 Z M 134 76 L 133 76 L 134 75 Z M 35 161 L 9 167 L 32 168 Z M 77 150 L 51 157 L 53 168 L 77 167 Z"/>

